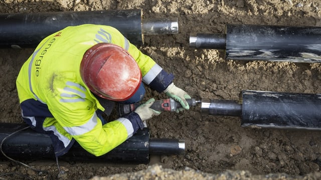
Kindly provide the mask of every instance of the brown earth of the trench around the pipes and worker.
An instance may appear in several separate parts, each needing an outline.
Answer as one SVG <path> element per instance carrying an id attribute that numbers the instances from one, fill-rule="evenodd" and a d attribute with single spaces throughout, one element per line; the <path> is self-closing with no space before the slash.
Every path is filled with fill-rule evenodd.
<path id="1" fill-rule="evenodd" d="M 139 49 L 165 70 L 173 72 L 176 85 L 192 97 L 232 100 L 239 100 L 242 90 L 320 93 L 321 66 L 318 63 L 224 60 L 222 51 L 190 48 L 190 33 L 223 33 L 225 24 L 320 26 L 320 8 L 321 2 L 312 0 L 0 1 L 0 13 L 142 9 L 143 18 L 177 17 L 179 34 L 145 36 L 145 44 Z M 23 122 L 15 80 L 20 67 L 32 52 L 33 49 L 0 50 L 2 122 Z M 155 99 L 166 97 L 148 88 L 146 96 Z M 186 154 L 159 157 L 156 162 L 164 169 L 159 166 L 147 168 L 145 164 L 122 166 L 61 161 L 60 166 L 65 173 L 59 174 L 55 161 L 35 159 L 28 164 L 48 170 L 55 178 L 59 174 L 59 179 L 87 179 L 126 172 L 132 173 L 109 178 L 170 179 L 173 174 L 177 175 L 173 179 L 320 177 L 319 131 L 242 128 L 239 118 L 202 115 L 200 107 L 179 114 L 164 112 L 149 120 L 148 126 L 152 138 L 185 139 Z M 161 174 L 161 171 L 167 174 Z M 9 172 L 24 174 L 32 179 L 49 178 L 48 174 L 36 173 L 10 160 L 2 161 L 0 175 Z M 191 172 L 193 175 L 184 176 Z M 224 172 L 223 176 L 220 176 L 221 172 Z M 140 176 L 135 176 L 137 173 Z M 264 176 L 271 173 L 283 175 Z M 259 174 L 262 176 L 255 176 Z M 23 178 L 17 175 L 0 177 Z"/>

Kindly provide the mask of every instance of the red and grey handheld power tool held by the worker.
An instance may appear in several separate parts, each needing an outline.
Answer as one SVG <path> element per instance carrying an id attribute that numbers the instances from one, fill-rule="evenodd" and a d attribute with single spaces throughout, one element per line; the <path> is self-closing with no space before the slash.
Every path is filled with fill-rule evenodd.
<path id="1" fill-rule="evenodd" d="M 190 107 L 195 106 L 197 103 L 201 103 L 201 100 L 196 99 L 186 99 L 187 103 Z M 141 103 L 133 103 L 133 104 L 119 104 L 118 105 L 118 113 L 119 116 L 124 114 L 128 114 L 134 111 Z M 175 101 L 173 98 L 162 99 L 154 101 L 154 103 L 150 106 L 151 109 L 156 111 L 176 111 L 178 108 L 181 108 L 182 105 Z"/>

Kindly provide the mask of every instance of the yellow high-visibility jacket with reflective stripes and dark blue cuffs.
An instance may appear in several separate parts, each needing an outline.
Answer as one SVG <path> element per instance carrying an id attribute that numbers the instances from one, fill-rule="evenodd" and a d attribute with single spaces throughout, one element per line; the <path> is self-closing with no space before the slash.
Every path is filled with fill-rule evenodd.
<path id="1" fill-rule="evenodd" d="M 131 137 L 142 122 L 138 114 L 102 125 L 96 110 L 104 107 L 80 76 L 86 50 L 97 43 L 126 49 L 136 60 L 143 82 L 163 92 L 173 81 L 150 57 L 142 54 L 115 28 L 102 25 L 67 27 L 46 37 L 25 62 L 17 78 L 24 120 L 36 131 L 50 135 L 56 156 L 65 154 L 76 140 L 99 156 Z"/>

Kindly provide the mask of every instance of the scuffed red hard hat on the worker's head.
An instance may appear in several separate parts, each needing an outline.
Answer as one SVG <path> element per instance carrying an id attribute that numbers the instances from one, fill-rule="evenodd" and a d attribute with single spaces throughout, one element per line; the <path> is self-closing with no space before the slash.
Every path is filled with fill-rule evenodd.
<path id="1" fill-rule="evenodd" d="M 123 48 L 99 43 L 86 51 L 80 64 L 80 75 L 96 95 L 125 101 L 139 88 L 141 72 L 134 58 Z"/>

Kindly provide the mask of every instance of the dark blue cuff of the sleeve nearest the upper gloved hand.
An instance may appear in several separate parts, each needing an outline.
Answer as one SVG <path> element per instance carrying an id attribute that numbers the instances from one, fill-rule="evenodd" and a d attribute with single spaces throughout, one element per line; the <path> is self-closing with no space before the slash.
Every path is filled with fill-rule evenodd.
<path id="1" fill-rule="evenodd" d="M 173 80 L 174 75 L 172 73 L 167 73 L 165 70 L 162 70 L 155 79 L 150 82 L 149 87 L 161 93 L 173 82 Z"/>

